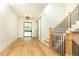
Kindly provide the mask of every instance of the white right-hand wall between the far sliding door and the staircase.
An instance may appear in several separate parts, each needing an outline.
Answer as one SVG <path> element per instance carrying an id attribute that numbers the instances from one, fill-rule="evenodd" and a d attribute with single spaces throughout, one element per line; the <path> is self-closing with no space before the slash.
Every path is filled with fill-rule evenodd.
<path id="1" fill-rule="evenodd" d="M 48 39 L 49 27 L 54 28 L 65 16 L 64 4 L 49 4 L 41 14 L 41 39 Z"/>

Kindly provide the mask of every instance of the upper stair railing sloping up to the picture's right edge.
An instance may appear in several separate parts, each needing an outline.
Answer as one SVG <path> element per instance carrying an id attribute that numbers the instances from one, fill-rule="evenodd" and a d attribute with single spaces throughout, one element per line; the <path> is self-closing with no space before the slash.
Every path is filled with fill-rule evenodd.
<path id="1" fill-rule="evenodd" d="M 72 25 L 76 24 L 77 21 L 79 21 L 79 5 L 60 24 L 58 24 L 53 31 L 65 32 L 68 28 L 71 28 Z"/>

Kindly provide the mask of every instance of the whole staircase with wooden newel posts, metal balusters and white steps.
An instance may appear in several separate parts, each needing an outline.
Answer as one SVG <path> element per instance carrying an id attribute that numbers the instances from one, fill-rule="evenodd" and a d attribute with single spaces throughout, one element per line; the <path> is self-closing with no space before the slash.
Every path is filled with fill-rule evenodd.
<path id="1" fill-rule="evenodd" d="M 49 31 L 49 47 L 61 56 L 75 55 L 79 47 L 76 43 L 73 45 L 73 32 L 79 32 L 79 5 L 60 24 Z M 77 46 L 77 51 L 73 50 L 72 45 Z"/>

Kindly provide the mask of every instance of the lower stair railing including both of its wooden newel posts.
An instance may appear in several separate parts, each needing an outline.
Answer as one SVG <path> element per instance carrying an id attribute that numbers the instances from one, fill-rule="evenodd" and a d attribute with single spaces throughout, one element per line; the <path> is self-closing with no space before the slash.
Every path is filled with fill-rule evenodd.
<path id="1" fill-rule="evenodd" d="M 54 33 L 52 30 L 49 28 L 49 47 L 61 56 L 72 55 L 72 33 Z"/>

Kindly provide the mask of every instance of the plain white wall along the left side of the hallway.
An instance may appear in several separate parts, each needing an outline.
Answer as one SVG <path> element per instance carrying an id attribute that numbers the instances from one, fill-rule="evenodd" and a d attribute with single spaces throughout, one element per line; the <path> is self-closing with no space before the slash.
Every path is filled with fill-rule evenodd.
<path id="1" fill-rule="evenodd" d="M 7 4 L 0 4 L 0 51 L 18 38 L 17 16 Z"/>

